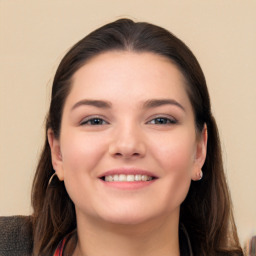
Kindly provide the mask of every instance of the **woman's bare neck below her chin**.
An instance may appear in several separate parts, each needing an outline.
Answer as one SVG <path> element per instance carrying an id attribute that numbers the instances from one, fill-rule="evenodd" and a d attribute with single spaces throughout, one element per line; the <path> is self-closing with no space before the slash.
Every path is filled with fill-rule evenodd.
<path id="1" fill-rule="evenodd" d="M 162 217 L 136 225 L 77 217 L 78 241 L 73 256 L 180 255 L 178 217 Z"/>

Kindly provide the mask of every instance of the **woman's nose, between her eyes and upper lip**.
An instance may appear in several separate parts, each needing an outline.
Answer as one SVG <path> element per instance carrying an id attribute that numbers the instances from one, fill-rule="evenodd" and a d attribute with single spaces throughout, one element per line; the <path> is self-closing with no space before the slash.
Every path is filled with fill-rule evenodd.
<path id="1" fill-rule="evenodd" d="M 115 131 L 109 145 L 109 153 L 115 158 L 142 158 L 146 145 L 139 127 L 125 125 Z"/>

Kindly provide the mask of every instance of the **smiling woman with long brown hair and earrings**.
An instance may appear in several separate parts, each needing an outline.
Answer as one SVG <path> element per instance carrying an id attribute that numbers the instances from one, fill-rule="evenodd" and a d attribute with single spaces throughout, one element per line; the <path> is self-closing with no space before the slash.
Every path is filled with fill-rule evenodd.
<path id="1" fill-rule="evenodd" d="M 34 255 L 242 255 L 202 70 L 121 19 L 56 72 L 32 191 Z"/>

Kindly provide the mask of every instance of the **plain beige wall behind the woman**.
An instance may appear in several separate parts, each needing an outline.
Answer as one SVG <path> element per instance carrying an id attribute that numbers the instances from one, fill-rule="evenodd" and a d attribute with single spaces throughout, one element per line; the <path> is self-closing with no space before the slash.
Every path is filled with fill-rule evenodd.
<path id="1" fill-rule="evenodd" d="M 0 215 L 29 214 L 51 79 L 66 50 L 119 17 L 172 31 L 205 72 L 239 236 L 256 233 L 256 1 L 0 0 Z"/>

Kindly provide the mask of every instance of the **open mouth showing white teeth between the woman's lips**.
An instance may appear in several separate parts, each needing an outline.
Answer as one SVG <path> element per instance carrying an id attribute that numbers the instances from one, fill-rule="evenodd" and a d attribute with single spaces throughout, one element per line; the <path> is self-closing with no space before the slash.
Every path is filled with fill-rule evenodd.
<path id="1" fill-rule="evenodd" d="M 157 179 L 146 174 L 112 174 L 100 177 L 105 182 L 148 182 Z"/>

